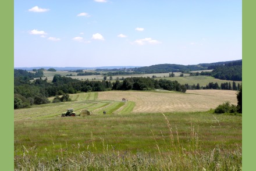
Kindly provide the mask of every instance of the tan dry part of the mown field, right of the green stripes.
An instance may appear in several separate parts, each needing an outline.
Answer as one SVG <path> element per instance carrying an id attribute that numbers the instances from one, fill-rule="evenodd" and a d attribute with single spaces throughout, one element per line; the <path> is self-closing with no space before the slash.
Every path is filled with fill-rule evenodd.
<path id="1" fill-rule="evenodd" d="M 142 112 L 196 112 L 214 109 L 229 101 L 237 104 L 236 91 L 187 90 L 179 92 L 105 91 L 98 92 L 98 100 L 121 101 L 126 98 L 135 102 L 133 113 Z"/>

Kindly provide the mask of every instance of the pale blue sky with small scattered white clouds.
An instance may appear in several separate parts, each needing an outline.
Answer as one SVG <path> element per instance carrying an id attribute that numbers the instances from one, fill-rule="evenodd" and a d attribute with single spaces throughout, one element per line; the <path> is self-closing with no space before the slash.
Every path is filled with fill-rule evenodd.
<path id="1" fill-rule="evenodd" d="M 15 0 L 14 67 L 242 59 L 242 1 Z"/>

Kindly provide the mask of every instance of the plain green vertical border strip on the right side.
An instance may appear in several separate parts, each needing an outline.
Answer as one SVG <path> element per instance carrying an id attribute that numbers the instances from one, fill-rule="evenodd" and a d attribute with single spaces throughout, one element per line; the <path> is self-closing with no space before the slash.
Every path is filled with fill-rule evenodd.
<path id="1" fill-rule="evenodd" d="M 256 1 L 244 0 L 243 5 L 243 170 L 255 168 L 255 90 L 253 75 L 255 59 Z"/>

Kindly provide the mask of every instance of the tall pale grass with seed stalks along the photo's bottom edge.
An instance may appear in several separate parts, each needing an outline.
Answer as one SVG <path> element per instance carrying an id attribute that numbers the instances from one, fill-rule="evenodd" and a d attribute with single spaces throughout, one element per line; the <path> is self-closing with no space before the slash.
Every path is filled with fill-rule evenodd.
<path id="1" fill-rule="evenodd" d="M 79 143 L 62 147 L 51 140 L 51 149 L 39 152 L 37 145 L 22 145 L 15 149 L 15 170 L 241 170 L 241 147 L 227 149 L 218 144 L 205 151 L 191 119 L 190 129 L 183 133 L 186 137 L 181 138 L 177 127 L 173 128 L 168 118 L 162 116 L 168 136 L 162 131 L 157 136 L 159 133 L 151 130 L 157 152 L 120 150 L 104 138 L 95 141 L 91 132 L 87 147 Z M 159 145 L 160 141 L 164 145 Z"/>

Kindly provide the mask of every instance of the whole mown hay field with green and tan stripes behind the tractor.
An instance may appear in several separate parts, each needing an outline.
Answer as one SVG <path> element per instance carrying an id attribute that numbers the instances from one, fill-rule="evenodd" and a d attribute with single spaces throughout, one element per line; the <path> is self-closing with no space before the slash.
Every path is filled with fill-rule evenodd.
<path id="1" fill-rule="evenodd" d="M 186 93 L 163 90 L 104 91 L 70 94 L 70 98 L 70 102 L 15 110 L 15 120 L 56 117 L 66 112 L 67 108 L 74 108 L 77 114 L 87 109 L 97 115 L 103 111 L 107 114 L 198 112 L 209 111 L 226 101 L 237 104 L 236 91 L 230 90 L 187 90 Z M 123 98 L 128 101 L 122 102 Z"/>

